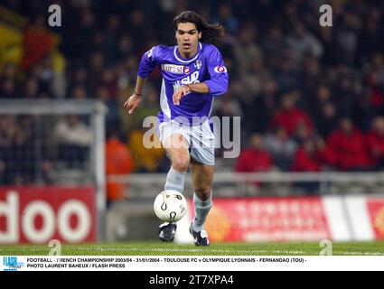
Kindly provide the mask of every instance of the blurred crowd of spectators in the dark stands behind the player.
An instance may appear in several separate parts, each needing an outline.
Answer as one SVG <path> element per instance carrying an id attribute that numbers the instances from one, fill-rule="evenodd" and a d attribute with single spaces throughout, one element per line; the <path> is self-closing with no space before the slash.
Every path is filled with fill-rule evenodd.
<path id="1" fill-rule="evenodd" d="M 125 172 L 166 171 L 164 151 L 148 152 L 141 142 L 144 117 L 160 109 L 159 71 L 150 76 L 133 116 L 123 103 L 133 92 L 142 54 L 160 43 L 174 44 L 173 17 L 184 10 L 195 10 L 226 30 L 220 51 L 229 70 L 229 92 L 216 99 L 213 114 L 241 117 L 244 148 L 232 163 L 234 170 L 384 167 L 384 5 L 379 2 L 329 1 L 332 27 L 322 27 L 320 0 L 54 1 L 61 6 L 62 26 L 49 29 L 42 12 L 50 1 L 2 3 L 31 24 L 23 35 L 30 53 L 20 67 L 6 63 L 0 71 L 1 98 L 102 101 L 112 143 L 128 148 L 132 165 Z M 55 44 L 50 33 L 61 41 Z M 55 45 L 65 59 L 61 69 L 52 58 Z M 0 145 L 5 128 L 0 127 Z M 14 135 L 14 144 L 18 138 Z"/>

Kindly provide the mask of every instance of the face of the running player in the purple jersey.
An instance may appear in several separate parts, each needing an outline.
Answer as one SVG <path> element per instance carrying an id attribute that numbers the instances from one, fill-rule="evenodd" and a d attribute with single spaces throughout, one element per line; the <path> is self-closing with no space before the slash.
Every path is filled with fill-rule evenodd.
<path id="1" fill-rule="evenodd" d="M 197 52 L 197 45 L 201 39 L 201 33 L 194 23 L 179 23 L 177 25 L 176 40 L 180 55 L 191 58 Z"/>

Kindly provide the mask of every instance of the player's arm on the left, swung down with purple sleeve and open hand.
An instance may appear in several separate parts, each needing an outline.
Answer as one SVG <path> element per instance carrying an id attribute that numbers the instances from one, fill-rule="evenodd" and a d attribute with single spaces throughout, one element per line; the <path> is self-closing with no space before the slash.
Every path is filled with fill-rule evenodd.
<path id="1" fill-rule="evenodd" d="M 136 107 L 140 104 L 143 96 L 145 79 L 155 69 L 155 49 L 156 47 L 152 48 L 150 51 L 146 51 L 140 61 L 135 92 L 124 103 L 124 107 L 126 107 L 128 114 L 132 114 Z"/>

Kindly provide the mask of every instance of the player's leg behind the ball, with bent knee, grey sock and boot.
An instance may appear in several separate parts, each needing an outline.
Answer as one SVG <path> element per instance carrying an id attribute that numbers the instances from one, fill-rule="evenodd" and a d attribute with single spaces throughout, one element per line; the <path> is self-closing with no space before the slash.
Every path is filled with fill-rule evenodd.
<path id="1" fill-rule="evenodd" d="M 166 154 L 171 160 L 171 168 L 167 174 L 164 189 L 183 193 L 185 173 L 190 164 L 189 144 L 181 134 L 168 136 L 164 143 Z M 164 242 L 172 242 L 176 232 L 175 223 L 160 225 L 159 238 Z"/>

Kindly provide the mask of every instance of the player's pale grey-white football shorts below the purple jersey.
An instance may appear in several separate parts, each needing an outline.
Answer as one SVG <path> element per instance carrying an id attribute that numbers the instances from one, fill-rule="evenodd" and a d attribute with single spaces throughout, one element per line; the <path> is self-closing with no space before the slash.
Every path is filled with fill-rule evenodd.
<path id="1" fill-rule="evenodd" d="M 207 165 L 215 165 L 215 135 L 207 121 L 201 125 L 187 126 L 174 120 L 163 122 L 158 127 L 159 139 L 165 141 L 171 135 L 183 135 L 189 145 L 193 160 Z"/>

